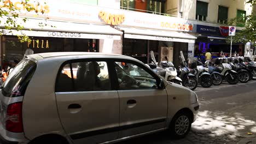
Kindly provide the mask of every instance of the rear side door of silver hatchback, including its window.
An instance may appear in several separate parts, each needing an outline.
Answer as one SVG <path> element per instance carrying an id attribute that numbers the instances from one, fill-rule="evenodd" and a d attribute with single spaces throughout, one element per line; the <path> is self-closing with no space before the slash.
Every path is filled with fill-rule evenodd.
<path id="1" fill-rule="evenodd" d="M 62 64 L 56 102 L 67 135 L 77 143 L 118 139 L 119 97 L 106 61 L 76 60 Z"/>

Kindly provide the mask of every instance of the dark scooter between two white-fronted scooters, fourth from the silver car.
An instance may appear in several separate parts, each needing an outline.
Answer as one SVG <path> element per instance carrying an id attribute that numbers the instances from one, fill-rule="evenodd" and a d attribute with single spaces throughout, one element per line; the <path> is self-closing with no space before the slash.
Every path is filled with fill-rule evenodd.
<path id="1" fill-rule="evenodd" d="M 213 85 L 218 86 L 222 84 L 223 76 L 218 72 L 218 68 L 214 67 L 214 64 L 212 62 L 205 62 L 205 70 L 207 71 L 207 73 L 211 74 Z"/>

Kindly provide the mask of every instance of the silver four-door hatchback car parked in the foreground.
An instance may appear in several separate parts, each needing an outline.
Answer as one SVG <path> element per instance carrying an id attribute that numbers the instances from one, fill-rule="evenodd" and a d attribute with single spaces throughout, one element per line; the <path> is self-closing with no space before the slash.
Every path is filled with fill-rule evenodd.
<path id="1" fill-rule="evenodd" d="M 0 92 L 0 143 L 113 143 L 168 130 L 182 138 L 197 95 L 135 58 L 103 53 L 28 55 Z"/>

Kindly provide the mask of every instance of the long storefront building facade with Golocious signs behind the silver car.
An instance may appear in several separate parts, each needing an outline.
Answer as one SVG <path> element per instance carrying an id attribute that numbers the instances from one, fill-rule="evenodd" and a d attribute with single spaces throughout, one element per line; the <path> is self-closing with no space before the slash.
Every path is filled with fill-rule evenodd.
<path id="1" fill-rule="evenodd" d="M 34 53 L 118 53 L 144 63 L 151 61 L 150 51 L 154 51 L 158 61 L 167 56 L 177 66 L 181 50 L 188 57 L 194 56 L 195 52 L 203 55 L 206 49 L 214 51 L 228 47 L 224 40 L 226 17 L 220 13 L 228 13 L 227 19 L 231 19 L 243 15 L 244 11 L 249 14 L 247 11 L 251 10 L 240 0 L 38 1 L 40 5 L 33 2 L 31 5 L 38 10 L 45 9 L 46 13 L 35 17 L 33 11 L 25 13 L 21 10 L 21 15 L 28 17 L 26 23 L 20 21 L 25 26 L 22 32 L 9 33 L 2 27 L 2 65 L 22 57 L 26 49 L 32 49 Z M 22 9 L 18 0 L 11 2 Z M 45 19 L 47 26 L 39 27 L 38 23 Z M 21 33 L 31 37 L 31 41 L 20 43 L 15 34 Z M 236 45 L 233 46 L 236 50 L 244 47 L 243 44 Z"/>

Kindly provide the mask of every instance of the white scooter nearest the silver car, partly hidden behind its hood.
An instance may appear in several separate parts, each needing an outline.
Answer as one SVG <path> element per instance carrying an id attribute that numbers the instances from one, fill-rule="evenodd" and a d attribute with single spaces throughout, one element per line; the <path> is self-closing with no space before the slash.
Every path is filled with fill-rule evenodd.
<path id="1" fill-rule="evenodd" d="M 149 64 L 150 68 L 152 68 L 154 71 L 156 71 L 156 73 L 164 77 L 165 80 L 182 85 L 181 78 L 177 76 L 176 68 L 174 68 L 174 65 L 172 62 L 168 62 L 167 57 L 165 57 L 166 61 L 161 61 L 158 65 L 158 63 L 155 60 L 153 51 L 150 51 L 150 55 L 153 61 L 152 64 Z"/>

